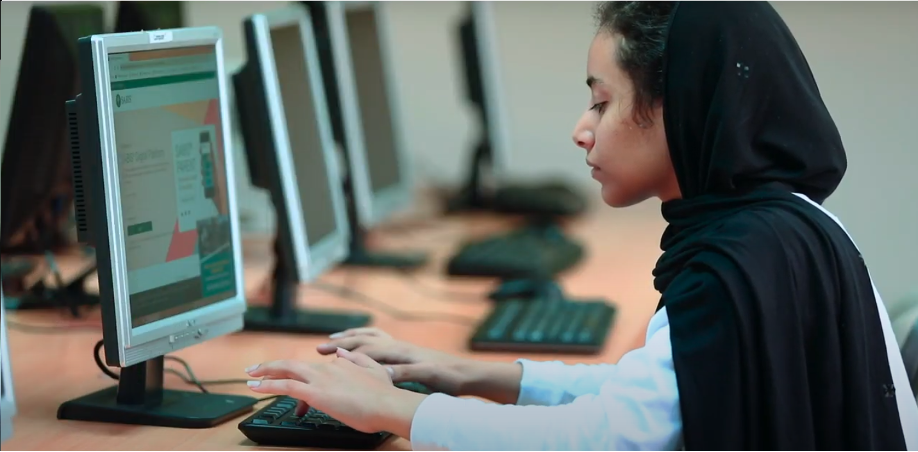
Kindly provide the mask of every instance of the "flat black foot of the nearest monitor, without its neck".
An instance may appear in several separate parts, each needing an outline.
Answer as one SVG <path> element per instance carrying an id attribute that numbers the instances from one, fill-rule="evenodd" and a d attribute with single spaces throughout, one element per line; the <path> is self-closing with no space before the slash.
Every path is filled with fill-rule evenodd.
<path id="1" fill-rule="evenodd" d="M 68 421 L 149 425 L 185 429 L 211 428 L 252 411 L 254 397 L 163 390 L 162 402 L 147 406 L 117 401 L 118 387 L 103 389 L 68 402 L 57 418 Z"/>

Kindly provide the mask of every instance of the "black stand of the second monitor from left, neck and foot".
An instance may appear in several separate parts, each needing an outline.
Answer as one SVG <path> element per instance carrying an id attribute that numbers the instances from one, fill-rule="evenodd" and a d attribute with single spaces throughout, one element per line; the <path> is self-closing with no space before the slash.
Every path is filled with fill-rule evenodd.
<path id="1" fill-rule="evenodd" d="M 284 264 L 278 246 L 280 240 L 275 238 L 271 306 L 250 305 L 245 313 L 246 331 L 329 335 L 369 325 L 369 314 L 297 309 L 299 281 Z"/>

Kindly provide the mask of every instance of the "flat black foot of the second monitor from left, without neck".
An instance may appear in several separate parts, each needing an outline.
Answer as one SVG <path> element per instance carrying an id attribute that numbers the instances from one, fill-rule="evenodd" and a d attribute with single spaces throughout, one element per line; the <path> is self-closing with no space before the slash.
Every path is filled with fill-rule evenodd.
<path id="1" fill-rule="evenodd" d="M 249 307 L 245 313 L 245 331 L 266 333 L 329 335 L 370 324 L 370 315 L 359 312 L 336 312 L 293 309 L 276 316 L 272 307 Z"/>

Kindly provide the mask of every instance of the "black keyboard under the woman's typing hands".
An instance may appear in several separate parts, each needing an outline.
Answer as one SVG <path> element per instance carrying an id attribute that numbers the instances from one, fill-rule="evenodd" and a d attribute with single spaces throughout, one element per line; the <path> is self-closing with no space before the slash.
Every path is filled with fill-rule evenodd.
<path id="1" fill-rule="evenodd" d="M 430 390 L 418 383 L 399 383 L 396 386 L 430 394 Z M 239 430 L 256 444 L 268 447 L 368 450 L 379 447 L 392 436 L 388 432 L 363 433 L 354 430 L 314 408 L 310 408 L 305 416 L 297 417 L 296 405 L 296 399 L 279 398 L 242 421 Z"/>

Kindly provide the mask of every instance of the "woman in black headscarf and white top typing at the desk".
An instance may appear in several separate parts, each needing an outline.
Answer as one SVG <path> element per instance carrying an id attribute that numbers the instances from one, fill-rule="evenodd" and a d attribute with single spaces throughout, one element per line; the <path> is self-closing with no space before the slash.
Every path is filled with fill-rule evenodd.
<path id="1" fill-rule="evenodd" d="M 646 345 L 615 365 L 485 363 L 356 330 L 319 347 L 332 362 L 249 369 L 252 389 L 415 449 L 918 450 L 886 310 L 821 207 L 845 151 L 782 19 L 751 2 L 598 18 L 574 141 L 607 204 L 663 201 Z"/>

